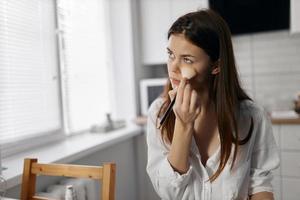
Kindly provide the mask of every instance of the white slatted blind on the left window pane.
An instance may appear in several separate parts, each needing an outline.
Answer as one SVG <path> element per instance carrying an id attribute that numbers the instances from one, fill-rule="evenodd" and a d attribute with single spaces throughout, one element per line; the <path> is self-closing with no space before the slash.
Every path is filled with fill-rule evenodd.
<path id="1" fill-rule="evenodd" d="M 61 129 L 55 3 L 0 1 L 0 143 Z"/>

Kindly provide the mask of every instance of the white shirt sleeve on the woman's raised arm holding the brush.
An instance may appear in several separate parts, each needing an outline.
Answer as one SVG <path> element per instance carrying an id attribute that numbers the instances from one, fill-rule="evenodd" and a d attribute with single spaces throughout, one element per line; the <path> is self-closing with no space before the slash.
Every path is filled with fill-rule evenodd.
<path id="1" fill-rule="evenodd" d="M 191 179 L 192 166 L 180 175 L 171 167 L 167 155 L 168 148 L 163 143 L 161 132 L 156 128 L 157 101 L 149 109 L 147 122 L 148 162 L 147 173 L 153 187 L 162 199 L 182 199 Z"/>

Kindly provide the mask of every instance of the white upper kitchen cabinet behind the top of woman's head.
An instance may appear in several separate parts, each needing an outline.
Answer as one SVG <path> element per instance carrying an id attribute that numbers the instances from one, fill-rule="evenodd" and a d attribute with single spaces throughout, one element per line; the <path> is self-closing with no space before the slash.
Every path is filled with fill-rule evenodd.
<path id="1" fill-rule="evenodd" d="M 167 62 L 167 34 L 181 15 L 208 7 L 208 0 L 141 0 L 141 49 L 145 65 Z"/>

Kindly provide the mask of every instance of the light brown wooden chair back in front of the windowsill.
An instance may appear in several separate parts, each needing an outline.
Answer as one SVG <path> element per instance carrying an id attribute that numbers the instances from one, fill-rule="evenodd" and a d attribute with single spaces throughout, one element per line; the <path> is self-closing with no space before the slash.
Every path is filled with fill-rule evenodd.
<path id="1" fill-rule="evenodd" d="M 45 197 L 35 196 L 37 175 L 98 179 L 102 181 L 102 198 L 100 199 L 115 199 L 116 165 L 114 163 L 107 163 L 103 166 L 41 164 L 38 163 L 35 158 L 26 158 L 24 160 L 21 200 L 47 199 Z"/>

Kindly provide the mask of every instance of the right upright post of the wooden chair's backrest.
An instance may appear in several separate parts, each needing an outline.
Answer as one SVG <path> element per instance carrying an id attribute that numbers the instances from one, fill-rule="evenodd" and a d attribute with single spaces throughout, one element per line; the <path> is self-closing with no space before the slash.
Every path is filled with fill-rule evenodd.
<path id="1" fill-rule="evenodd" d="M 103 181 L 102 181 L 103 200 L 115 199 L 115 179 L 116 179 L 116 165 L 111 163 L 104 164 Z"/>

